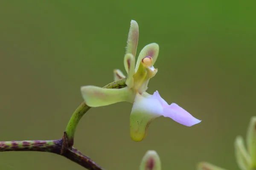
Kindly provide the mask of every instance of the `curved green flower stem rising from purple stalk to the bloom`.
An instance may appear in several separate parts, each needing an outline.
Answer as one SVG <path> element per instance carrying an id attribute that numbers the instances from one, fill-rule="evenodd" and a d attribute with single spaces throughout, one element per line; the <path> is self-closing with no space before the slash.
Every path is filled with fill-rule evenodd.
<path id="1" fill-rule="evenodd" d="M 115 82 L 111 82 L 108 85 L 105 85 L 103 88 L 124 88 L 126 87 L 124 79 L 119 79 Z M 86 105 L 85 102 L 82 102 L 81 105 L 76 109 L 76 111 L 73 113 L 73 115 L 70 118 L 70 121 L 67 124 L 66 127 L 66 134 L 67 134 L 67 142 L 68 142 L 68 147 L 72 147 L 74 144 L 74 136 L 76 132 L 76 127 L 82 118 L 84 116 L 84 113 L 86 113 L 90 109 L 89 106 Z"/>

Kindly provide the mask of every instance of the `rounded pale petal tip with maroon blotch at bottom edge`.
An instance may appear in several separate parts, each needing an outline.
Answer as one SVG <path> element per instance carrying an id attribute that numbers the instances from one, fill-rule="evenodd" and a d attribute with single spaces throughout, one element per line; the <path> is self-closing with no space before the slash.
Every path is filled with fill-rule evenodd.
<path id="1" fill-rule="evenodd" d="M 161 161 L 157 152 L 148 150 L 140 162 L 140 170 L 161 170 Z"/>

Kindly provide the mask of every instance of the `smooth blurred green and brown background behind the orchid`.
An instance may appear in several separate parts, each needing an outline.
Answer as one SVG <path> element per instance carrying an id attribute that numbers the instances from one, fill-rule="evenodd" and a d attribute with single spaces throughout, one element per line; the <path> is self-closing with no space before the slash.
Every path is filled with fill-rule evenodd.
<path id="1" fill-rule="evenodd" d="M 256 115 L 256 1 L 2 0 L 0 2 L 0 141 L 59 139 L 82 102 L 82 85 L 104 86 L 124 70 L 131 20 L 140 27 L 137 54 L 157 42 L 158 90 L 202 122 L 160 117 L 148 136 L 129 135 L 132 105 L 93 108 L 75 147 L 107 170 L 138 169 L 156 150 L 163 170 L 209 161 L 238 169 L 233 143 Z M 2 152 L 2 170 L 83 170 L 62 156 Z"/>

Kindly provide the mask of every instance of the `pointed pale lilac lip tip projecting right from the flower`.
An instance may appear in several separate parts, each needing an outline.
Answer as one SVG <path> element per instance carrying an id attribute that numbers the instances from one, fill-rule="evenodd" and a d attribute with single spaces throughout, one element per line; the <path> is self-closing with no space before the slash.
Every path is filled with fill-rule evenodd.
<path id="1" fill-rule="evenodd" d="M 189 112 L 178 106 L 176 103 L 163 105 L 163 116 L 173 119 L 185 126 L 192 126 L 201 122 L 193 117 Z"/>

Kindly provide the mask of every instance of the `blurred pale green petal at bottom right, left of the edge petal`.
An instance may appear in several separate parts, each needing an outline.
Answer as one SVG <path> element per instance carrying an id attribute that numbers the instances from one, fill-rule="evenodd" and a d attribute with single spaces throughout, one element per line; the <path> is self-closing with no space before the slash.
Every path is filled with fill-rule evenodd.
<path id="1" fill-rule="evenodd" d="M 237 136 L 235 140 L 235 156 L 236 162 L 241 170 L 250 169 L 250 156 L 247 150 L 245 149 L 244 140 L 241 136 Z"/>

